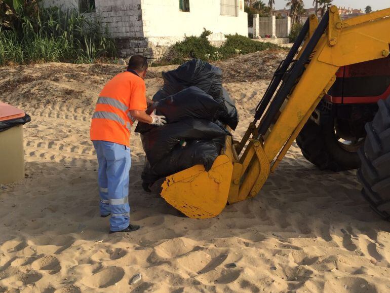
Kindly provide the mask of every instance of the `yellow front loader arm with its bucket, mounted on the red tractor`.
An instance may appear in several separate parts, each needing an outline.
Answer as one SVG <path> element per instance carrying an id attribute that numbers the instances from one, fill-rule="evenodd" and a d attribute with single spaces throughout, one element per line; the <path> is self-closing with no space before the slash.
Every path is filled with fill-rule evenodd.
<path id="1" fill-rule="evenodd" d="M 339 67 L 388 57 L 389 43 L 390 8 L 346 20 L 336 6 L 321 22 L 311 15 L 242 140 L 227 137 L 208 172 L 196 165 L 167 176 L 161 196 L 188 217 L 199 219 L 217 216 L 227 203 L 256 196 L 335 82 Z"/>

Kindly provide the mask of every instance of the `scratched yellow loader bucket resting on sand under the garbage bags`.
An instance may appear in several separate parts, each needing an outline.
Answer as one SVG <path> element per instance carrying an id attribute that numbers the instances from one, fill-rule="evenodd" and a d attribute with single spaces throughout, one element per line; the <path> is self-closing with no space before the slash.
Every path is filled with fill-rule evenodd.
<path id="1" fill-rule="evenodd" d="M 196 165 L 166 177 L 161 196 L 190 218 L 215 217 L 227 203 L 232 172 L 231 136 L 227 136 L 225 148 L 210 171 Z"/>

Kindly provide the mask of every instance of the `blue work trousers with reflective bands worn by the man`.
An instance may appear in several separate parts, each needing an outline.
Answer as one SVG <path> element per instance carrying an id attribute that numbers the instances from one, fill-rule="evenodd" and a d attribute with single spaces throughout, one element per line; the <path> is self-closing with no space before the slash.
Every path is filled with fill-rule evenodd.
<path id="1" fill-rule="evenodd" d="M 99 162 L 100 213 L 111 214 L 110 230 L 121 231 L 130 224 L 130 149 L 126 145 L 93 140 Z"/>

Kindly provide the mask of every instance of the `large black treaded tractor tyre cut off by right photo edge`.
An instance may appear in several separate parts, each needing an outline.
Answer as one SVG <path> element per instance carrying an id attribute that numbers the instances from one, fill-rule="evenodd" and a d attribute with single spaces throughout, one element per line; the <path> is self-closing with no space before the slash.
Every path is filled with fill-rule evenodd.
<path id="1" fill-rule="evenodd" d="M 374 120 L 366 124 L 367 137 L 359 150 L 358 179 L 372 209 L 390 220 L 390 98 L 378 102 Z"/>

